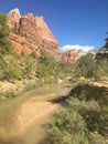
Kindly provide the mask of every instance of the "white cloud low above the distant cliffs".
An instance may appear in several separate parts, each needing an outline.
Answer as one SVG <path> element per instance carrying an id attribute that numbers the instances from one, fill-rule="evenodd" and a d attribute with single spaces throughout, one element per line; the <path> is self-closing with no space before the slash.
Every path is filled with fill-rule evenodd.
<path id="1" fill-rule="evenodd" d="M 78 45 L 78 44 L 75 44 L 75 45 L 66 44 L 66 45 L 62 47 L 61 49 L 63 51 L 76 49 L 76 50 L 83 50 L 83 51 L 87 52 L 89 50 L 94 50 L 95 47 L 90 47 L 90 45 Z"/>

